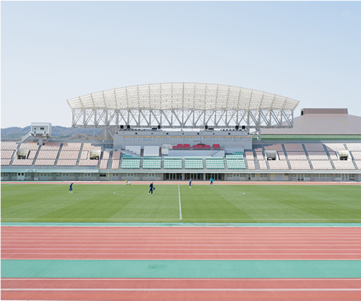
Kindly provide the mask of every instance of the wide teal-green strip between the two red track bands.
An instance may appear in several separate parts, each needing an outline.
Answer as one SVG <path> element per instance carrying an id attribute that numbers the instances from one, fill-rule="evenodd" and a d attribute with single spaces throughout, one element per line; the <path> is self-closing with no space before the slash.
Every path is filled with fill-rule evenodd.
<path id="1" fill-rule="evenodd" d="M 361 260 L 1 260 L 2 278 L 360 278 Z"/>

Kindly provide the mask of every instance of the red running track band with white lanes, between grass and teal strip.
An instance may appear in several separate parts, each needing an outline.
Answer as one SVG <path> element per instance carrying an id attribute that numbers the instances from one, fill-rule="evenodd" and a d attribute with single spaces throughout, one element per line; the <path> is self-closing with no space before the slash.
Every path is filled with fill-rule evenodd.
<path id="1" fill-rule="evenodd" d="M 359 227 L 2 226 L 2 259 L 360 260 Z"/>

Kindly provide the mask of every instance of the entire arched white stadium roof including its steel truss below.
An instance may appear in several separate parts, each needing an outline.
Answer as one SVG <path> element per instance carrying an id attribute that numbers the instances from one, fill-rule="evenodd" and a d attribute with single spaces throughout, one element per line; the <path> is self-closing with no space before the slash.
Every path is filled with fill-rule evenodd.
<path id="1" fill-rule="evenodd" d="M 234 86 L 167 83 L 69 99 L 73 127 L 291 128 L 298 101 Z"/>

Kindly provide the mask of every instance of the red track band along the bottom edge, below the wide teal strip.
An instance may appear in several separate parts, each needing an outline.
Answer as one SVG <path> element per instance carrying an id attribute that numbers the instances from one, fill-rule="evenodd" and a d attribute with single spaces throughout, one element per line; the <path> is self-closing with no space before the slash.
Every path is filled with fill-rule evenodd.
<path id="1" fill-rule="evenodd" d="M 361 279 L 3 278 L 2 299 L 355 301 Z"/>

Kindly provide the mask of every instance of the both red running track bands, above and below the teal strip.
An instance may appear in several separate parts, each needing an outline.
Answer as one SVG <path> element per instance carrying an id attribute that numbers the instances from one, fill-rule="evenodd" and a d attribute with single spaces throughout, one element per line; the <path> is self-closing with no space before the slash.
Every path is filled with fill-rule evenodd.
<path id="1" fill-rule="evenodd" d="M 357 227 L 11 227 L 2 259 L 360 260 Z M 359 300 L 361 278 L 2 278 L 2 299 Z"/>

